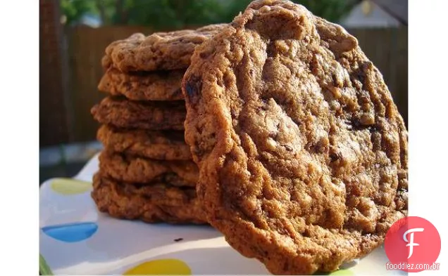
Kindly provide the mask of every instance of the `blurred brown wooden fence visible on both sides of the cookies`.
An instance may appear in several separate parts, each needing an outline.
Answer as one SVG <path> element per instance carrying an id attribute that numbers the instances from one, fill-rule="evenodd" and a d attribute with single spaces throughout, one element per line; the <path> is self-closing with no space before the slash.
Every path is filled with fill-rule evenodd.
<path id="1" fill-rule="evenodd" d="M 407 118 L 408 31 L 400 29 L 349 29 L 364 53 L 380 69 L 400 112 Z M 97 91 L 103 74 L 101 58 L 108 44 L 135 32 L 149 34 L 148 27 L 73 27 L 66 29 L 68 48 L 68 131 L 73 141 L 93 140 L 98 124 L 91 107 L 104 97 Z M 41 91 L 43 93 L 44 91 Z M 42 99 L 42 98 L 41 98 Z M 70 142 L 73 142 L 70 141 Z"/>

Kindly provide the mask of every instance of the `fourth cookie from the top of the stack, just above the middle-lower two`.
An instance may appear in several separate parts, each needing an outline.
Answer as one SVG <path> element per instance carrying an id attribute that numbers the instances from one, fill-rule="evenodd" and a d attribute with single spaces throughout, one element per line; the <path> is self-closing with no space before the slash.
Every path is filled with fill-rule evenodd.
<path id="1" fill-rule="evenodd" d="M 97 139 L 114 152 L 158 160 L 191 160 L 183 131 L 117 129 L 102 125 Z"/>

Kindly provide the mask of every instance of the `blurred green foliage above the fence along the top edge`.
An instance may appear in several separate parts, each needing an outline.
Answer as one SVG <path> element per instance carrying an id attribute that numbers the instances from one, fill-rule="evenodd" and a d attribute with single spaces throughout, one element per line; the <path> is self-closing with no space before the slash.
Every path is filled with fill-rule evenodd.
<path id="1" fill-rule="evenodd" d="M 160 29 L 230 22 L 251 0 L 60 0 L 66 24 L 97 15 L 104 25 L 147 25 Z M 314 14 L 337 22 L 355 0 L 295 0 Z"/>

